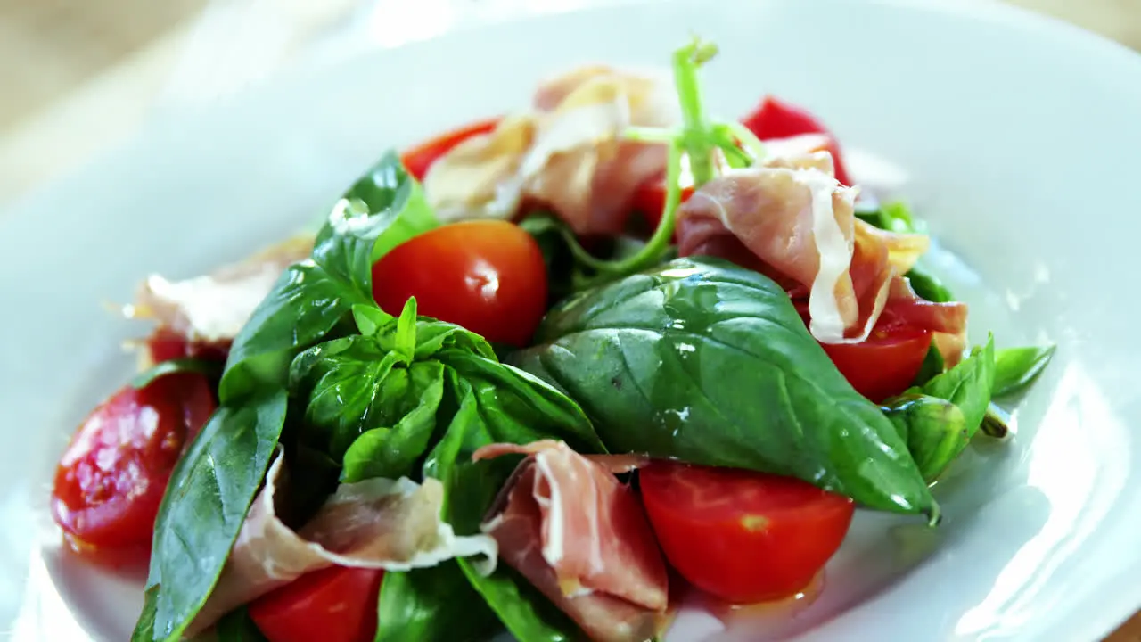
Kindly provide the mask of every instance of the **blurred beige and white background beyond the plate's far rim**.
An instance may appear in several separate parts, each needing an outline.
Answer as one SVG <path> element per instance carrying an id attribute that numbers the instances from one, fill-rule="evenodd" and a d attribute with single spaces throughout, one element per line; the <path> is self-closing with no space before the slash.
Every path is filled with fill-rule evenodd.
<path id="1" fill-rule="evenodd" d="M 301 53 L 584 1 L 599 0 L 0 0 L 0 204 L 151 114 L 227 95 Z M 1005 1 L 1141 49 L 1141 0 Z M 365 38 L 345 38 L 354 30 Z"/>

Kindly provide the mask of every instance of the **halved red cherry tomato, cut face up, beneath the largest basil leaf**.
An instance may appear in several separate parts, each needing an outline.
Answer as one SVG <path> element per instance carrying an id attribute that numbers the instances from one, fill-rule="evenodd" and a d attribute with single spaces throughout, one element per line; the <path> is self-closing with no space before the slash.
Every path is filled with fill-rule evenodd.
<path id="1" fill-rule="evenodd" d="M 638 474 L 666 559 L 690 584 L 731 603 L 802 591 L 852 519 L 850 499 L 792 478 L 663 460 Z"/>

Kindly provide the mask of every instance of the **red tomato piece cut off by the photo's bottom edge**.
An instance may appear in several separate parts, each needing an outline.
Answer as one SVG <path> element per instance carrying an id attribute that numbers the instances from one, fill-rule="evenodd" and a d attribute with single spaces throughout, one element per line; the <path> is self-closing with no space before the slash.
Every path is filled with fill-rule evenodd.
<path id="1" fill-rule="evenodd" d="M 381 569 L 331 567 L 306 573 L 250 602 L 269 642 L 372 642 Z"/>

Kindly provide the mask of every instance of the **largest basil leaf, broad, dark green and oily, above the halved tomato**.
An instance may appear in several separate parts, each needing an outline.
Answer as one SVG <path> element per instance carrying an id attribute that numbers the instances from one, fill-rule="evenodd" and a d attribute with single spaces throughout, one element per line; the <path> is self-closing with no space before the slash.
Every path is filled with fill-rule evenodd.
<path id="1" fill-rule="evenodd" d="M 682 258 L 583 292 L 512 361 L 575 399 L 615 451 L 795 476 L 872 508 L 938 508 L 879 407 L 770 279 Z"/>

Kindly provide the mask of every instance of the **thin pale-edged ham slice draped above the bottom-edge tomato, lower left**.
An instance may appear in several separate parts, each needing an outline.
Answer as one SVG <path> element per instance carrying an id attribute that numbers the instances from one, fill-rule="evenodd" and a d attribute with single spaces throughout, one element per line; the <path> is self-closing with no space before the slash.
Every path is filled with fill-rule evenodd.
<path id="1" fill-rule="evenodd" d="M 194 635 L 229 610 L 332 565 L 407 571 L 453 557 L 483 556 L 475 568 L 495 570 L 499 548 L 487 535 L 456 536 L 440 519 L 443 484 L 426 478 L 371 479 L 341 484 L 299 531 L 278 517 L 275 498 L 288 483 L 277 456 L 253 500 L 210 597 L 187 633 Z"/>

